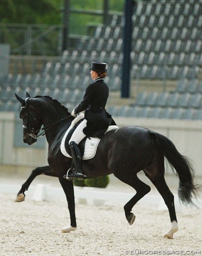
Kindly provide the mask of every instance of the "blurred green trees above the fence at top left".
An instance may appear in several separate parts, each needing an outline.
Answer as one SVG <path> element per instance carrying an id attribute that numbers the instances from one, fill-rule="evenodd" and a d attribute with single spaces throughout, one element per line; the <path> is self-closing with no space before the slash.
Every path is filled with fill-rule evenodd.
<path id="1" fill-rule="evenodd" d="M 123 11 L 124 0 L 109 0 L 111 11 Z M 64 0 L 0 0 L 0 17 L 2 23 L 37 23 L 62 24 L 62 9 Z M 70 0 L 74 9 L 102 10 L 103 0 Z M 72 27 L 83 25 L 83 21 L 100 22 L 100 17 L 94 15 L 71 14 Z M 75 18 L 76 15 L 76 18 Z M 81 17 L 81 18 L 80 18 Z M 86 22 L 85 22 L 86 23 Z"/>

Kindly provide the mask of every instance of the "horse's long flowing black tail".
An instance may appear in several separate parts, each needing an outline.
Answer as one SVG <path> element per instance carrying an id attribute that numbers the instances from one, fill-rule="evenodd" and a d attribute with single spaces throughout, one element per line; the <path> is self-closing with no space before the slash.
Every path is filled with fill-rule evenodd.
<path id="1" fill-rule="evenodd" d="M 172 171 L 174 172 L 175 169 L 176 173 L 178 174 L 180 180 L 178 196 L 180 201 L 184 205 L 193 204 L 192 198 L 197 197 L 197 191 L 199 188 L 201 188 L 201 186 L 195 185 L 194 183 L 195 173 L 193 166 L 190 163 L 190 159 L 181 155 L 175 148 L 173 142 L 164 135 L 159 133 L 152 134 L 155 135 L 155 144 L 157 148 L 161 150 L 161 153 L 163 153 L 167 161 L 169 161 Z"/>

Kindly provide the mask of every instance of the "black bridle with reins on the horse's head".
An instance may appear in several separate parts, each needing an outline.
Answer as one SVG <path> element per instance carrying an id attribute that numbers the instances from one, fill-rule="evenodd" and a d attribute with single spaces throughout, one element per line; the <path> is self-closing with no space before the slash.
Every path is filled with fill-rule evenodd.
<path id="1" fill-rule="evenodd" d="M 40 126 L 42 125 L 41 122 L 38 121 L 38 119 L 31 113 L 30 109 L 29 109 L 29 99 L 30 98 L 26 98 L 25 100 L 25 106 L 24 107 L 21 107 L 21 111 L 20 111 L 20 118 L 22 119 L 21 117 L 21 114 L 23 111 L 26 111 L 26 125 L 22 125 L 22 129 L 23 130 L 26 130 L 27 131 L 27 134 L 28 136 L 32 137 L 33 139 L 37 139 L 38 137 L 42 137 L 46 134 L 46 132 L 48 130 L 50 130 L 52 127 L 54 127 L 55 125 L 65 121 L 66 119 L 69 119 L 71 118 L 72 116 L 69 115 L 69 116 L 66 116 L 64 117 L 63 119 L 60 119 L 56 122 L 53 122 L 51 124 L 48 124 L 42 128 L 39 128 L 39 129 L 35 129 L 33 127 L 31 127 L 31 123 L 30 123 L 30 116 L 33 118 L 33 121 L 35 121 L 37 124 L 39 124 Z M 41 132 L 40 132 L 41 131 Z M 40 133 L 39 133 L 40 132 Z"/>

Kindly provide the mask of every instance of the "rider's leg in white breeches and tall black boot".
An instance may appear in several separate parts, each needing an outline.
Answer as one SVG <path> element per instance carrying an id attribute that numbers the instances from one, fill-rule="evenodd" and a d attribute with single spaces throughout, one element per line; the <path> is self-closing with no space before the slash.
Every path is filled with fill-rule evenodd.
<path id="1" fill-rule="evenodd" d="M 72 174 L 69 174 L 69 178 L 83 178 L 83 171 L 81 167 L 82 156 L 80 149 L 78 147 L 79 142 L 86 137 L 83 133 L 83 128 L 86 127 L 87 120 L 84 119 L 75 129 L 72 137 L 69 141 L 69 146 L 72 154 L 72 161 L 75 166 L 75 171 Z"/>

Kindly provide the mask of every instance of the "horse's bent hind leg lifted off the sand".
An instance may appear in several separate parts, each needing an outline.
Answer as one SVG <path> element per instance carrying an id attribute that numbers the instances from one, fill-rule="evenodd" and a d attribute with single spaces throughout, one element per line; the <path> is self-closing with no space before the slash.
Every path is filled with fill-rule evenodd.
<path id="1" fill-rule="evenodd" d="M 136 218 L 134 214 L 131 212 L 132 207 L 147 193 L 150 191 L 150 187 L 146 185 L 144 182 L 138 179 L 137 174 L 130 174 L 126 175 L 125 177 L 118 177 L 118 179 L 123 181 L 124 183 L 127 183 L 131 187 L 133 187 L 136 190 L 136 195 L 134 195 L 130 201 L 124 205 L 124 211 L 125 211 L 125 217 L 127 218 L 130 225 L 134 222 L 134 219 Z"/>

